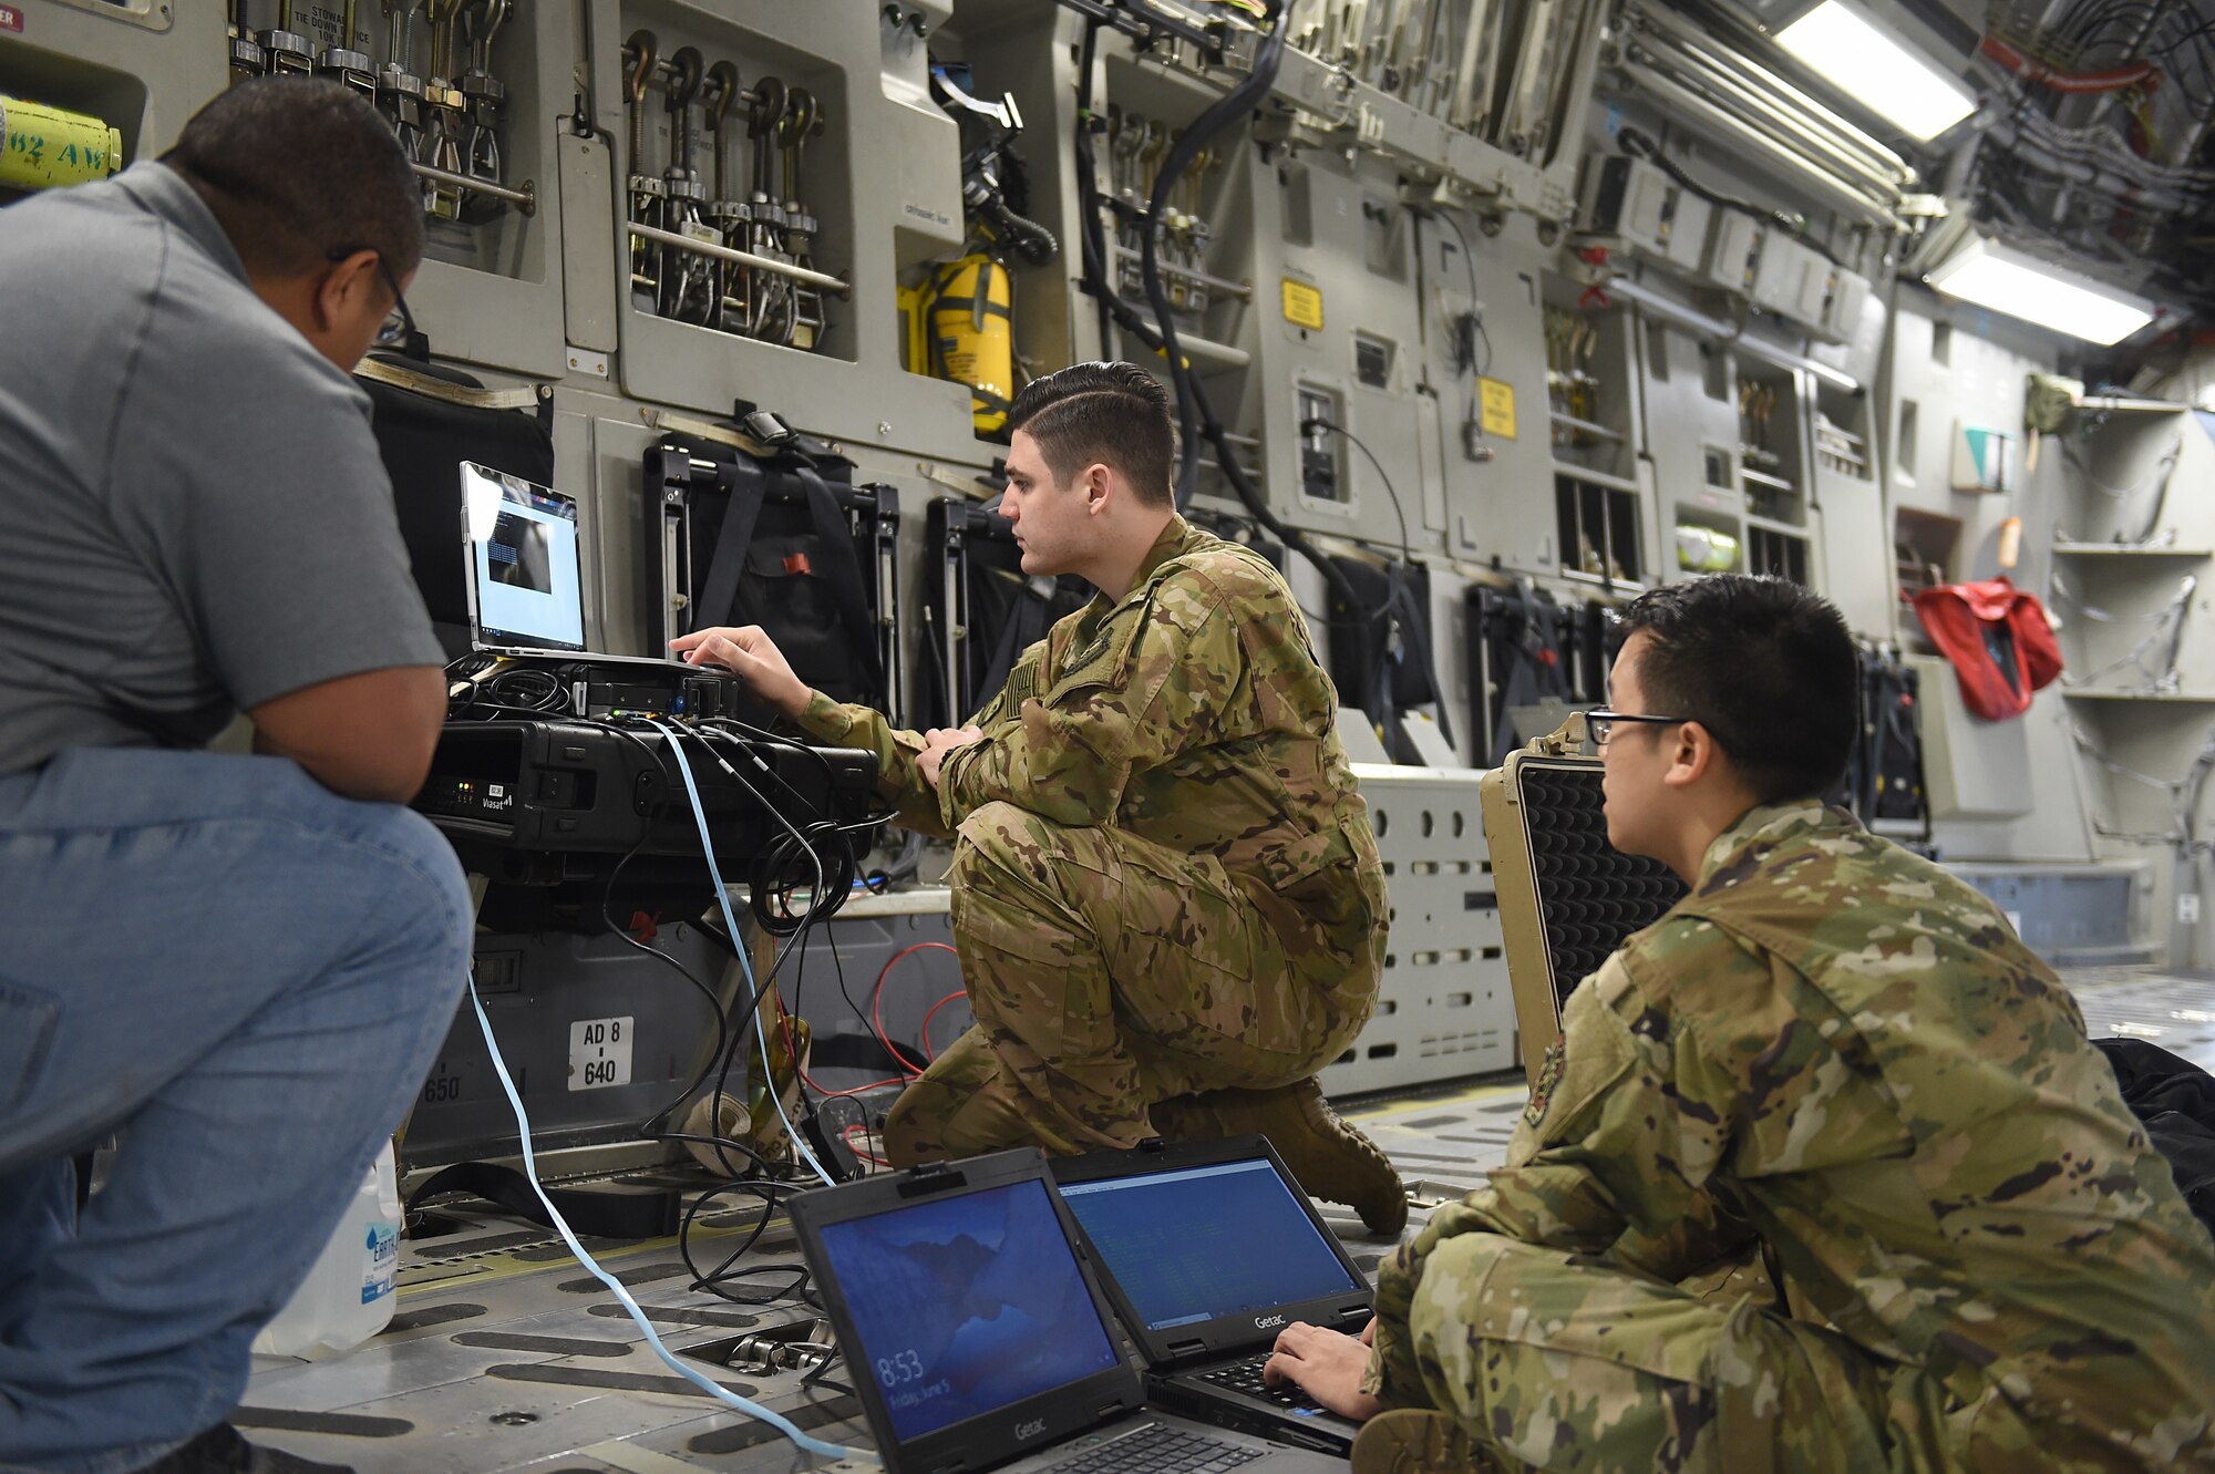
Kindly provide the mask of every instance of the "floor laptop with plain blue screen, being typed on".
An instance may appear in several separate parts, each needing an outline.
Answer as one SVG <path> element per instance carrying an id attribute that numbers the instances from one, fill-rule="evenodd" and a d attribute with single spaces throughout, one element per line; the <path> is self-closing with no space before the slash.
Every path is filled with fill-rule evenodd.
<path id="1" fill-rule="evenodd" d="M 1369 1279 L 1267 1138 L 1054 1162 L 1061 1202 L 1147 1361 L 1147 1401 L 1345 1454 L 1360 1423 L 1260 1368 L 1294 1321 L 1360 1335 Z"/>

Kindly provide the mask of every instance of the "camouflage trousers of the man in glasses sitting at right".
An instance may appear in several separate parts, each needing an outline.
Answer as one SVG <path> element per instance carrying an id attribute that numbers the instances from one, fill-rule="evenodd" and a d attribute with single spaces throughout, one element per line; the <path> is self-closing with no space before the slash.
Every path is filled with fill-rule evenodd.
<path id="1" fill-rule="evenodd" d="M 1440 1419 L 1418 1436 L 1378 1425 L 1356 1441 L 1353 1474 L 2140 1467 L 2027 1423 L 1993 1388 L 1949 1388 L 1830 1326 L 1781 1315 L 1759 1259 L 1668 1284 L 1471 1233 L 1431 1250 L 1404 1315 L 1404 1385 L 1420 1374 L 1455 1425 Z"/>

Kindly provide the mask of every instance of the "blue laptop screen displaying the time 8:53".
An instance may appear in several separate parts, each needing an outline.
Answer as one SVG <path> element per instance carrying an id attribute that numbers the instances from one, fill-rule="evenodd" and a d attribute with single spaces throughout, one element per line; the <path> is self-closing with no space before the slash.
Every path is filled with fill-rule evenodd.
<path id="1" fill-rule="evenodd" d="M 1028 1180 L 824 1224 L 855 1374 L 877 1379 L 902 1443 L 1121 1363 L 1048 1193 Z"/>

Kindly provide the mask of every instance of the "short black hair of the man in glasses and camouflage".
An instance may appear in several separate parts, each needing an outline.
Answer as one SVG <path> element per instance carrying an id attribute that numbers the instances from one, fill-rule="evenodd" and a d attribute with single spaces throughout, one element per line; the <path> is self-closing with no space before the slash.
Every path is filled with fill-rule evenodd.
<path id="1" fill-rule="evenodd" d="M 1708 728 L 1763 803 L 1827 795 L 1861 726 L 1861 657 L 1838 609 L 1788 578 L 1710 573 L 1641 593 L 1639 686 Z"/>

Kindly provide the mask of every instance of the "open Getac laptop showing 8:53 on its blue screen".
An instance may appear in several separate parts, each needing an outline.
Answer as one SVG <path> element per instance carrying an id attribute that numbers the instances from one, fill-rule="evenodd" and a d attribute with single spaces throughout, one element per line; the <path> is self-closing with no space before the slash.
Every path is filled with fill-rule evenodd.
<path id="1" fill-rule="evenodd" d="M 1347 1467 L 1145 1412 L 1034 1149 L 817 1188 L 791 1211 L 890 1474 Z"/>

